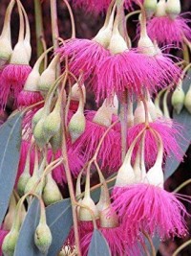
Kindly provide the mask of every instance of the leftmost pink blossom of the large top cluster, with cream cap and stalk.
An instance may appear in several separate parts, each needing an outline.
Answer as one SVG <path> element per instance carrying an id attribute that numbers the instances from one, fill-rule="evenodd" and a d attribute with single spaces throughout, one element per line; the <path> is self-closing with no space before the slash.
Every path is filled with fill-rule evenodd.
<path id="1" fill-rule="evenodd" d="M 107 47 L 112 35 L 112 26 L 115 7 L 112 12 L 112 5 L 108 9 L 105 23 L 97 35 L 92 39 L 71 39 L 65 43 L 58 53 L 61 58 L 68 57 L 69 68 L 75 76 L 82 72 L 84 80 L 96 76 L 96 67 L 100 61 L 109 56 Z"/>

